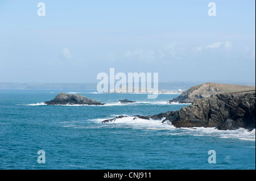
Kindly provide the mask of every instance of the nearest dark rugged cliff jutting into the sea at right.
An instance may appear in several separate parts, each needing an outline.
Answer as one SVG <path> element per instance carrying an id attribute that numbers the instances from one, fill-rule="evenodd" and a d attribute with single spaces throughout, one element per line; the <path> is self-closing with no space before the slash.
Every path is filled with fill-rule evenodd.
<path id="1" fill-rule="evenodd" d="M 183 107 L 179 111 L 137 117 L 158 120 L 164 118 L 163 122 L 170 121 L 177 128 L 216 127 L 221 130 L 246 128 L 251 131 L 255 128 L 255 91 L 216 94 L 209 98 L 197 99 L 190 106 Z"/>

